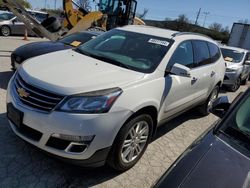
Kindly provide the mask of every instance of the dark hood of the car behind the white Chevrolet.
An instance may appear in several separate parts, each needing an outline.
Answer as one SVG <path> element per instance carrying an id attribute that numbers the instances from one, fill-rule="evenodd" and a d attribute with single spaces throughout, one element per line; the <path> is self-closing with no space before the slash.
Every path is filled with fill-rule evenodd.
<path id="1" fill-rule="evenodd" d="M 33 42 L 17 48 L 12 54 L 15 57 L 20 57 L 21 61 L 23 62 L 31 57 L 69 48 L 72 48 L 72 46 L 63 44 L 61 42 Z"/>

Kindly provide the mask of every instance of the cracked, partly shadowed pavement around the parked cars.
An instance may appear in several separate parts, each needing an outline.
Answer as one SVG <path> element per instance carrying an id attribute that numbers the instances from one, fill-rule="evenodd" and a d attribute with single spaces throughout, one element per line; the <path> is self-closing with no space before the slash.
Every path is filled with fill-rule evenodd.
<path id="1" fill-rule="evenodd" d="M 28 42 L 39 40 L 31 38 Z M 196 110 L 172 120 L 158 129 L 139 163 L 121 174 L 108 167 L 86 169 L 59 162 L 15 136 L 6 118 L 6 88 L 13 74 L 10 53 L 25 43 L 21 37 L 0 37 L 0 187 L 150 187 L 216 121 L 213 115 L 200 117 Z M 232 100 L 246 88 L 221 95 Z"/>

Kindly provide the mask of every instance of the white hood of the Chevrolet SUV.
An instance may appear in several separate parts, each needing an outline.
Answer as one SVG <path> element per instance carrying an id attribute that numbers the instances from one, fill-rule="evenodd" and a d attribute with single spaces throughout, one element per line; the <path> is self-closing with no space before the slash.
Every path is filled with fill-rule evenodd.
<path id="1" fill-rule="evenodd" d="M 72 95 L 113 87 L 125 87 L 145 74 L 121 68 L 73 50 L 29 59 L 19 69 L 27 82 L 59 94 Z"/>

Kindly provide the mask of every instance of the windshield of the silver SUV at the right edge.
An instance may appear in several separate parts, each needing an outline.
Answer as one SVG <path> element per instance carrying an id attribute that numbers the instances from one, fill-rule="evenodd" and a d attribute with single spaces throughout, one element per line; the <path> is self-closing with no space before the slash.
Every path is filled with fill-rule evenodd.
<path id="1" fill-rule="evenodd" d="M 221 52 L 225 61 L 232 62 L 232 63 L 239 63 L 242 61 L 244 57 L 244 52 L 239 52 L 236 50 L 221 48 Z"/>

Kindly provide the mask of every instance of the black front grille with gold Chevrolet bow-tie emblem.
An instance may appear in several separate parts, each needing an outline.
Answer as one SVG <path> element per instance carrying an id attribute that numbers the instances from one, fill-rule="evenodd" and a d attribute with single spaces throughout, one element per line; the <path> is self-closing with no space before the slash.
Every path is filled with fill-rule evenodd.
<path id="1" fill-rule="evenodd" d="M 14 79 L 14 86 L 15 92 L 23 104 L 45 112 L 50 112 L 63 99 L 61 95 L 28 84 L 19 74 Z M 20 90 L 25 92 L 23 95 L 26 96 L 20 94 Z"/>

